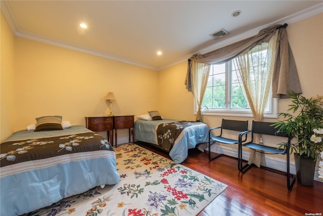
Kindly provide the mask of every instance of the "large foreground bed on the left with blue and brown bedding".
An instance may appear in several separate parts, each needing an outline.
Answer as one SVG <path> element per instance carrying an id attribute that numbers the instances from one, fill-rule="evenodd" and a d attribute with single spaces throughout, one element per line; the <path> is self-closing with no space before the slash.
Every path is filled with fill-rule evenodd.
<path id="1" fill-rule="evenodd" d="M 79 125 L 18 131 L 1 143 L 0 164 L 0 214 L 6 216 L 120 181 L 110 143 Z"/>

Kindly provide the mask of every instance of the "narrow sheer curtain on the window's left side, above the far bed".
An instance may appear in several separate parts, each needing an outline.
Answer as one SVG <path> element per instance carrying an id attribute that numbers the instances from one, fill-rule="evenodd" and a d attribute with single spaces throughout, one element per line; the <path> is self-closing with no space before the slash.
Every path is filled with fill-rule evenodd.
<path id="1" fill-rule="evenodd" d="M 194 100 L 196 104 L 198 105 L 197 113 L 196 113 L 196 121 L 202 120 L 202 113 L 201 113 L 201 106 L 202 101 L 207 85 L 207 79 L 208 75 L 210 73 L 211 66 L 206 63 L 200 63 L 200 62 L 191 62 L 191 74 L 190 78 L 192 81 L 192 93 L 194 95 Z"/>

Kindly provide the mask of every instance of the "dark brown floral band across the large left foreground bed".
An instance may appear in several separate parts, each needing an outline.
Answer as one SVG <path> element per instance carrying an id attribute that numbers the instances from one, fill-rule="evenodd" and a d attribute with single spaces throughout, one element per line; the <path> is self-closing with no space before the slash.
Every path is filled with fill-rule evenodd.
<path id="1" fill-rule="evenodd" d="M 97 150 L 114 151 L 94 132 L 5 142 L 0 145 L 1 167 L 15 163 Z"/>

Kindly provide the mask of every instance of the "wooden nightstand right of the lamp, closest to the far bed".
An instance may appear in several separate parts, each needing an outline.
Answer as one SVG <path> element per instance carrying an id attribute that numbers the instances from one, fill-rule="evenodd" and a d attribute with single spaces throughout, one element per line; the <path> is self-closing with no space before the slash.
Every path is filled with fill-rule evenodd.
<path id="1" fill-rule="evenodd" d="M 131 138 L 132 132 L 132 143 L 134 143 L 134 115 L 117 115 L 114 116 L 114 124 L 113 128 L 115 129 L 115 141 L 117 147 L 117 140 L 118 140 L 118 129 L 129 129 L 129 142 Z"/>

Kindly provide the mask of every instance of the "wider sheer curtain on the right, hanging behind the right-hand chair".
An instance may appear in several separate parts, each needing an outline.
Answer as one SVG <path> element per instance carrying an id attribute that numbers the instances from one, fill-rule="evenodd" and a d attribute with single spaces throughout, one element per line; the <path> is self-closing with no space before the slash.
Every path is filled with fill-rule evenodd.
<path id="1" fill-rule="evenodd" d="M 262 120 L 271 90 L 271 80 L 276 59 L 277 35 L 278 32 L 273 35 L 268 43 L 261 43 L 233 60 L 241 89 L 244 90 L 255 121 Z M 259 137 L 254 137 L 254 139 L 258 142 Z M 254 163 L 258 167 L 260 164 L 265 165 L 263 154 L 250 150 L 248 163 Z"/>

